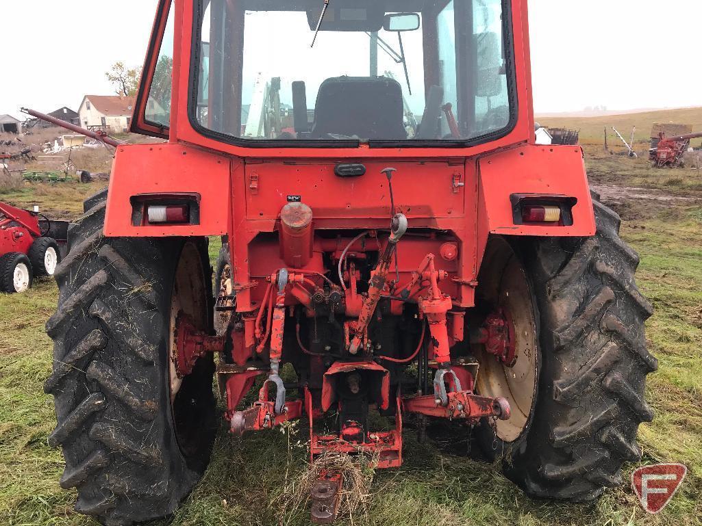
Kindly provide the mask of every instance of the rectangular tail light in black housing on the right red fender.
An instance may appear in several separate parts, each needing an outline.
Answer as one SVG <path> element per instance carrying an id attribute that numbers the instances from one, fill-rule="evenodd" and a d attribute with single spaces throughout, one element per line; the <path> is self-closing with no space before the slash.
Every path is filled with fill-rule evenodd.
<path id="1" fill-rule="evenodd" d="M 569 227 L 573 224 L 575 197 L 548 194 L 512 194 L 515 224 Z"/>

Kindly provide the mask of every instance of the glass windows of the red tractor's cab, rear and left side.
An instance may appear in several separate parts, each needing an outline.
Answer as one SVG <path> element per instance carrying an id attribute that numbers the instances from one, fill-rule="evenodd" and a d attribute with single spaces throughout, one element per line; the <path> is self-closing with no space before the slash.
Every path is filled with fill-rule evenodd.
<path id="1" fill-rule="evenodd" d="M 255 148 L 456 147 L 515 127 L 509 3 L 192 4 L 191 57 L 178 69 L 190 68 L 188 121 L 204 137 Z M 172 42 L 166 21 L 137 130 L 165 136 L 170 126 Z"/>

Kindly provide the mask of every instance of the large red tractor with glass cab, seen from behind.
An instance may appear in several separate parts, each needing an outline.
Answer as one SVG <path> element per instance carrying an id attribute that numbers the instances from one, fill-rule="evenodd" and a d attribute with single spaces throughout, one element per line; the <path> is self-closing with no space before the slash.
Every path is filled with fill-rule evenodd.
<path id="1" fill-rule="evenodd" d="M 299 418 L 313 461 L 397 468 L 451 421 L 527 494 L 586 501 L 640 458 L 651 305 L 582 149 L 535 144 L 525 0 L 161 0 L 132 130 L 166 142 L 117 147 L 46 325 L 77 511 L 172 513 L 214 376 L 227 429 Z"/>

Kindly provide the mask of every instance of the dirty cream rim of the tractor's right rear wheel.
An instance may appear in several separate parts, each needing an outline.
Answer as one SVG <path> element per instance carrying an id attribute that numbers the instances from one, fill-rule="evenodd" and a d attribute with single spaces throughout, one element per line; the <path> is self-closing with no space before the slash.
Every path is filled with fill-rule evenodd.
<path id="1" fill-rule="evenodd" d="M 513 442 L 529 425 L 536 402 L 538 382 L 538 339 L 534 295 L 527 273 L 508 243 L 501 242 L 496 259 L 487 268 L 498 269 L 499 276 L 486 291 L 486 301 L 493 309 L 509 314 L 515 337 L 516 362 L 512 367 L 501 363 L 484 347 L 475 350 L 480 363 L 477 391 L 484 396 L 503 396 L 510 403 L 512 416 L 496 422 L 496 434 Z M 490 283 L 490 280 L 488 280 Z"/>

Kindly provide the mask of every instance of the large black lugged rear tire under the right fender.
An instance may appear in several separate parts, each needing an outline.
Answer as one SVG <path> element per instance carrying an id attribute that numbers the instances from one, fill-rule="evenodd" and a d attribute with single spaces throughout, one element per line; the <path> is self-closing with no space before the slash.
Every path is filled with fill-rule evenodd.
<path id="1" fill-rule="evenodd" d="M 524 245 L 541 318 L 541 371 L 531 424 L 506 448 L 505 474 L 532 497 L 588 501 L 620 485 L 640 459 L 636 434 L 653 412 L 644 400 L 658 367 L 646 349 L 653 312 L 634 281 L 637 254 L 621 220 L 595 201 L 592 238 Z"/>

